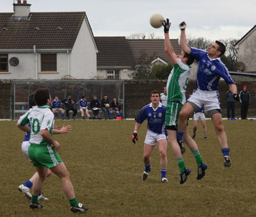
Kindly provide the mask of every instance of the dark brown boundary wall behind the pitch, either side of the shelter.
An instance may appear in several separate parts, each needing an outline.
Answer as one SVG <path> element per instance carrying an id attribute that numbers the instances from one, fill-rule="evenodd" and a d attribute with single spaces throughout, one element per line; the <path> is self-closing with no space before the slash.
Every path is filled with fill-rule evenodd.
<path id="1" fill-rule="evenodd" d="M 238 93 L 242 90 L 243 85 L 247 86 L 247 90 L 250 92 L 251 101 L 249 105 L 248 118 L 256 117 L 256 103 L 255 103 L 255 93 L 256 93 L 256 79 L 245 77 L 245 79 L 233 78 L 236 82 Z M 0 95 L 10 95 L 11 92 L 11 82 L 10 80 L 0 81 Z M 99 80 L 99 82 L 102 82 Z M 152 90 L 159 90 L 160 93 L 163 92 L 163 87 L 166 85 L 167 80 L 126 80 L 125 81 L 125 103 L 123 107 L 125 108 L 126 118 L 136 118 L 139 114 L 141 108 L 148 103 L 150 103 L 150 92 Z M 196 89 L 195 81 L 191 80 L 188 82 L 187 96 Z M 222 117 L 226 118 L 226 101 L 225 93 L 228 91 L 228 85 L 225 81 L 220 81 L 220 99 L 222 108 Z M 10 117 L 10 106 L 7 105 L 10 101 L 9 97 L 0 97 L 0 119 L 8 119 Z M 90 101 L 90 99 L 88 99 Z M 240 102 L 236 102 L 236 118 L 240 118 Z M 123 108 L 122 108 L 123 109 Z"/>

